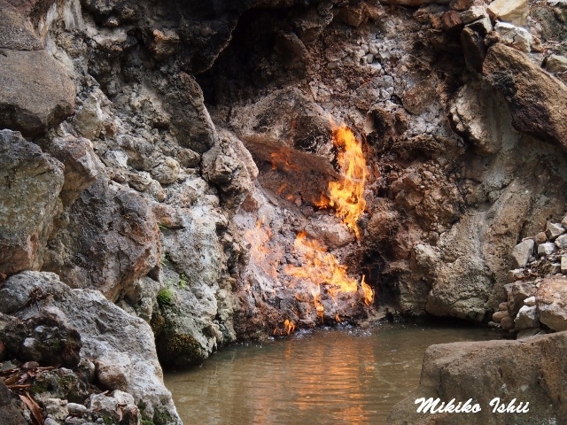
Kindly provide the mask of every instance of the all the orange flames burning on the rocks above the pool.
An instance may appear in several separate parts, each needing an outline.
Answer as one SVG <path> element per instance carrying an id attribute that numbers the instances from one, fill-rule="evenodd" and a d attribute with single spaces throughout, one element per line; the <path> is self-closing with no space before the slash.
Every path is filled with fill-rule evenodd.
<path id="1" fill-rule="evenodd" d="M 357 220 L 366 207 L 364 186 L 368 175 L 361 142 L 356 140 L 353 132 L 346 126 L 334 129 L 333 142 L 338 149 L 337 161 L 340 177 L 336 182 L 329 182 L 327 194 L 322 196 L 322 201 L 318 206 L 334 208 L 337 216 L 353 230 L 357 239 L 360 239 L 361 230 L 358 228 Z M 272 153 L 270 162 L 273 169 L 284 172 L 299 171 L 293 163 L 291 151 Z M 286 183 L 283 183 L 276 192 L 283 197 L 286 189 Z M 299 232 L 293 244 L 299 263 L 288 264 L 280 268 L 279 265 L 286 262 L 283 259 L 283 250 L 280 249 L 282 247 L 271 243 L 273 235 L 264 221 L 263 218 L 258 220 L 255 228 L 245 232 L 245 239 L 250 243 L 251 259 L 275 280 L 279 281 L 279 274 L 282 271 L 291 276 L 290 288 L 293 288 L 299 281 L 305 282 L 309 288 L 309 298 L 312 298 L 308 304 L 315 306 L 315 314 L 321 321 L 325 313 L 327 317 L 332 317 L 330 314 L 334 314 L 335 320 L 341 321 L 338 313 L 325 312 L 323 301 L 328 302 L 329 300 L 328 298 L 323 300 L 323 296 L 332 298 L 337 305 L 338 294 L 356 294 L 360 291 L 364 297 L 364 303 L 372 304 L 375 294 L 365 282 L 365 276 L 362 275 L 360 280 L 349 276 L 347 267 L 340 264 L 338 258 L 324 244 L 308 238 L 306 232 Z M 307 297 L 304 293 L 296 294 L 300 302 L 306 302 Z M 295 313 L 299 318 L 299 312 Z M 296 323 L 286 319 L 276 326 L 274 335 L 290 335 L 295 328 Z"/>

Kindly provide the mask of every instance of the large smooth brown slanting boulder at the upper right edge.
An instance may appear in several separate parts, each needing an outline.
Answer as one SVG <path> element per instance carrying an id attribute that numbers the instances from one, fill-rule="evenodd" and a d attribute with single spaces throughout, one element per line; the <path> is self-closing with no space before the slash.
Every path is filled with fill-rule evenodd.
<path id="1" fill-rule="evenodd" d="M 486 80 L 506 97 L 518 131 L 557 143 L 567 151 L 567 87 L 524 53 L 494 44 L 483 64 Z"/>

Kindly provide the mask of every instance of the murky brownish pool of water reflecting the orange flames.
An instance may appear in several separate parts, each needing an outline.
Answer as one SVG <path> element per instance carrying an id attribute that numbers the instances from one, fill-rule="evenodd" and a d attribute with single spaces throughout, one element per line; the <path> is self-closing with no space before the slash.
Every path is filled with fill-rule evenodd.
<path id="1" fill-rule="evenodd" d="M 185 425 L 379 425 L 416 389 L 429 345 L 499 338 L 485 328 L 335 328 L 225 348 L 165 381 Z"/>

